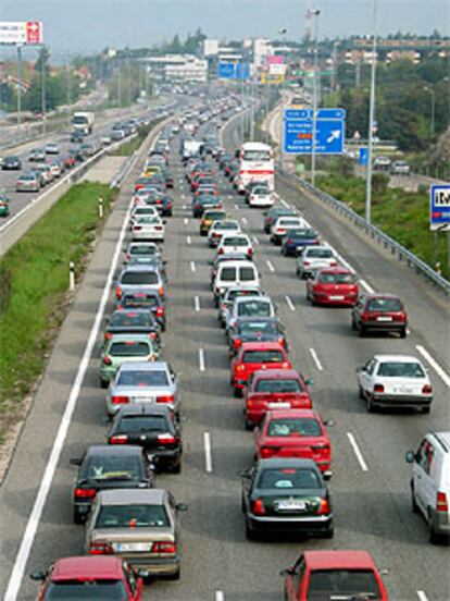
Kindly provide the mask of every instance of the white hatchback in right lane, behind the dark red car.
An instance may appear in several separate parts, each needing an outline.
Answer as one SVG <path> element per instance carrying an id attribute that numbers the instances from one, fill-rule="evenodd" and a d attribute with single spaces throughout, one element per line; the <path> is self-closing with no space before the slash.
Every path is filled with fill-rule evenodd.
<path id="1" fill-rule="evenodd" d="M 376 407 L 417 407 L 424 414 L 429 413 L 433 387 L 426 368 L 416 357 L 374 355 L 357 373 L 367 412 Z"/>

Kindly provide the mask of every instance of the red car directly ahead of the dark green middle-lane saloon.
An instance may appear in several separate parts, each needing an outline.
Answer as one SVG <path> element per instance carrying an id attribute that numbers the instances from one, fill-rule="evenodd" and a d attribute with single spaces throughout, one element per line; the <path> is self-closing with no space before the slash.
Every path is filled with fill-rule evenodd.
<path id="1" fill-rule="evenodd" d="M 313 459 L 332 476 L 332 445 L 318 413 L 311 409 L 271 409 L 253 432 L 255 456 Z"/>

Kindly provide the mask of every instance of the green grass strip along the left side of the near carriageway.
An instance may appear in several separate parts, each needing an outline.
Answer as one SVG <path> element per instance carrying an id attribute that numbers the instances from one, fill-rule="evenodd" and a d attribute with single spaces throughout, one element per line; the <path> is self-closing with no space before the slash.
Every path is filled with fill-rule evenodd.
<path id="1" fill-rule="evenodd" d="M 102 225 L 98 199 L 105 217 L 116 194 L 104 184 L 73 186 L 0 261 L 0 443 L 23 416 L 64 319 L 68 263 L 77 277 L 86 268 Z"/>

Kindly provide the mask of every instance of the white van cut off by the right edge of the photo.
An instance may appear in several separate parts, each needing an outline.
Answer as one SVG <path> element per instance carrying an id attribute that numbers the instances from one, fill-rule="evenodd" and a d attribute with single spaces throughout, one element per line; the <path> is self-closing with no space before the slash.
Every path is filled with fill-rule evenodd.
<path id="1" fill-rule="evenodd" d="M 450 432 L 425 434 L 417 451 L 407 453 L 413 464 L 411 502 L 428 524 L 429 541 L 450 536 Z"/>

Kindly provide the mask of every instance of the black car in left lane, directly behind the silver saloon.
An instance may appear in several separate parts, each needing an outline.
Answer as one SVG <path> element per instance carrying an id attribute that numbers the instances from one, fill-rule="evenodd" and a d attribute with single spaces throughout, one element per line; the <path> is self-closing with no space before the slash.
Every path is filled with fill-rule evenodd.
<path id="1" fill-rule="evenodd" d="M 157 404 L 122 407 L 108 434 L 109 444 L 137 444 L 159 471 L 182 471 L 182 433 L 175 413 Z"/>

